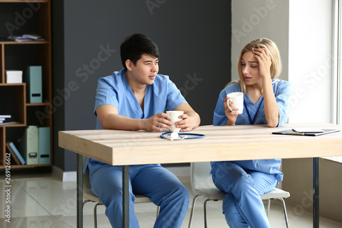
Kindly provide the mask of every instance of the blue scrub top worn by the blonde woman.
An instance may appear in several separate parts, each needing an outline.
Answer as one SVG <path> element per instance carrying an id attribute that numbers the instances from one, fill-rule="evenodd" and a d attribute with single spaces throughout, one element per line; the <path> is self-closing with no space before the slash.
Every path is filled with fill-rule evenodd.
<path id="1" fill-rule="evenodd" d="M 274 79 L 272 81 L 272 86 L 274 90 L 274 96 L 276 97 L 276 102 L 278 103 L 279 108 L 279 123 L 278 127 L 287 123 L 287 119 L 289 118 L 289 97 L 292 93 L 292 86 L 288 81 L 283 81 L 279 79 Z M 228 118 L 224 113 L 224 99 L 227 94 L 231 92 L 241 92 L 241 87 L 237 83 L 233 83 L 229 86 L 226 86 L 221 92 L 218 98 L 218 103 L 216 104 L 216 108 L 213 116 L 213 125 L 226 125 Z M 263 105 L 263 96 L 257 101 L 257 103 L 253 103 L 248 94 L 244 95 L 244 101 L 246 106 L 244 107 L 244 112 L 237 116 L 237 121 L 235 125 L 250 125 L 250 119 L 248 118 L 248 114 L 246 112 L 246 108 L 250 112 L 251 119 L 254 118 L 254 125 L 265 125 L 267 124 L 265 118 L 265 108 Z M 260 106 L 259 110 L 258 107 Z M 274 151 L 276 153 L 276 151 Z M 239 164 L 244 169 L 247 170 L 256 170 L 263 173 L 271 173 L 275 174 L 278 182 L 282 181 L 282 173 L 279 172 L 281 160 L 280 159 L 271 159 L 271 160 L 246 160 L 246 161 L 231 161 L 235 164 Z M 219 164 L 220 162 L 211 162 L 211 166 L 215 166 L 215 164 Z"/>

